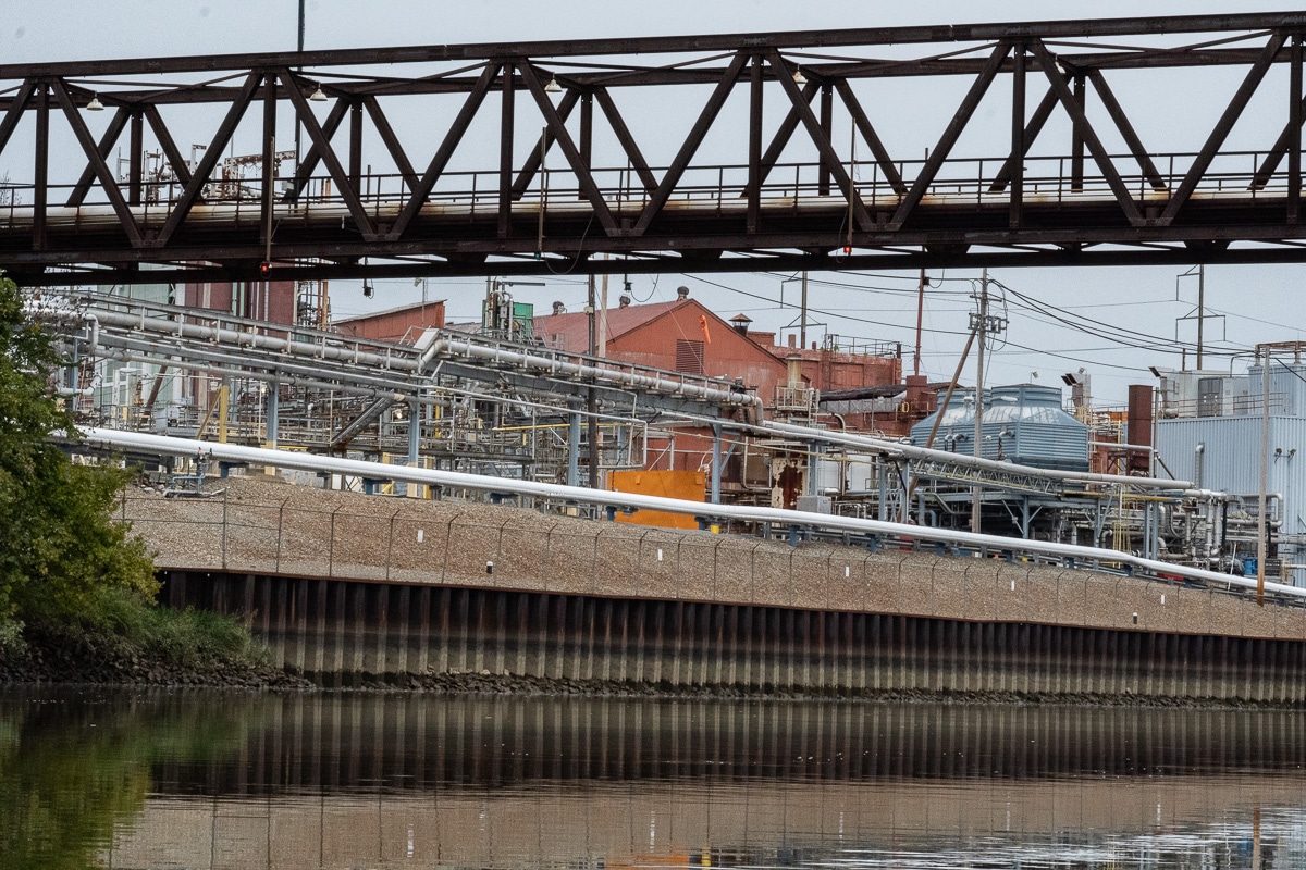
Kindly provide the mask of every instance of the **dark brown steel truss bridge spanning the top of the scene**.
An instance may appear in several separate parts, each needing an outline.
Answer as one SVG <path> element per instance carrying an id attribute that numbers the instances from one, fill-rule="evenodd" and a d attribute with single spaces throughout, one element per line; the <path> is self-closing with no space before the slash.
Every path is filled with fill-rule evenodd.
<path id="1" fill-rule="evenodd" d="M 1306 12 L 0 64 L 0 269 L 1302 261 L 1303 34 Z M 1175 99 L 1174 70 L 1209 68 L 1229 70 L 1195 98 L 1221 107 L 1213 127 L 1139 123 Z M 932 77 L 960 102 L 929 81 L 917 110 L 943 132 L 895 154 L 902 116 L 879 94 Z M 1230 150 L 1254 99 L 1266 141 Z M 223 159 L 236 140 L 257 153 Z"/>

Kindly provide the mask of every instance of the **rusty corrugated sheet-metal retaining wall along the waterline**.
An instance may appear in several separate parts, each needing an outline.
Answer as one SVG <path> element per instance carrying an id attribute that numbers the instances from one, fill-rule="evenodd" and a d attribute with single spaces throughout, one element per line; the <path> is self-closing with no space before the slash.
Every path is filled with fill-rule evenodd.
<path id="1" fill-rule="evenodd" d="M 731 603 L 171 571 L 324 685 L 511 674 L 671 690 L 1301 703 L 1306 642 Z"/>

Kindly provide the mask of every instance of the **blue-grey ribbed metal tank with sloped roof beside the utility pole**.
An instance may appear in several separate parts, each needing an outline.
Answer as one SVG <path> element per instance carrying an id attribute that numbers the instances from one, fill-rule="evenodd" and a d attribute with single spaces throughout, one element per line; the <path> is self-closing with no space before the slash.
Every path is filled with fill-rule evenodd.
<path id="1" fill-rule="evenodd" d="M 938 412 L 912 427 L 912 443 L 923 447 Z M 1016 383 L 983 391 L 982 443 L 985 459 L 1004 459 L 1036 468 L 1088 471 L 1088 427 L 1062 410 L 1054 386 Z M 952 397 L 934 446 L 974 455 L 974 390 Z"/>

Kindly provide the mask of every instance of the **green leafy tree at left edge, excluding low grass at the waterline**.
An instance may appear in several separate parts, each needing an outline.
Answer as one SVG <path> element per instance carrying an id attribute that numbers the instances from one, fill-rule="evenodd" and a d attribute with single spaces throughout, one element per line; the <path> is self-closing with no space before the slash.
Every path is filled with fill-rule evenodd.
<path id="1" fill-rule="evenodd" d="M 76 434 L 48 386 L 57 365 L 51 337 L 0 278 L 0 626 L 76 613 L 107 588 L 157 591 L 145 545 L 112 519 L 128 473 L 73 466 L 48 441 Z"/>

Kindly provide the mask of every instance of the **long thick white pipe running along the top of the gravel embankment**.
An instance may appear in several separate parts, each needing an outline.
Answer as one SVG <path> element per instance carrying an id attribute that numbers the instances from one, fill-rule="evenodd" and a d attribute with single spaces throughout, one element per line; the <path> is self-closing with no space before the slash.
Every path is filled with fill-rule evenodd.
<path id="1" fill-rule="evenodd" d="M 944 545 L 966 547 L 976 550 L 999 549 L 1003 552 L 1021 552 L 1067 563 L 1079 563 L 1080 561 L 1087 565 L 1097 562 L 1114 562 L 1128 566 L 1131 571 L 1138 569 L 1144 574 L 1165 574 L 1171 578 L 1199 580 L 1204 584 L 1220 584 L 1229 590 L 1238 588 L 1251 592 L 1256 591 L 1256 580 L 1250 578 L 1171 565 L 1169 562 L 1148 560 L 1121 550 L 1080 547 L 1076 544 L 1029 541 L 1003 537 L 999 535 L 977 535 L 973 532 L 949 531 L 925 526 L 906 526 L 902 523 L 859 519 L 854 517 L 836 517 L 831 514 L 782 510 L 777 507 L 709 505 L 679 498 L 663 498 L 660 496 L 641 496 L 636 493 L 623 493 L 605 489 L 588 489 L 584 487 L 564 487 L 532 480 L 509 480 L 504 477 L 469 475 L 434 468 L 410 468 L 407 466 L 390 466 L 358 459 L 317 457 L 286 450 L 268 450 L 264 447 L 213 443 L 208 441 L 171 438 L 167 436 L 144 434 L 137 432 L 119 432 L 116 429 L 88 429 L 85 434 L 88 443 L 115 450 L 137 450 L 142 453 L 174 457 L 206 455 L 219 462 L 295 468 L 311 472 L 326 471 L 372 480 L 394 480 L 421 485 L 456 487 L 478 492 L 515 493 L 520 496 L 535 496 L 579 503 L 592 503 L 616 510 L 658 510 L 692 517 L 709 517 L 713 519 L 737 519 L 743 522 L 771 523 L 798 528 L 821 528 L 835 532 L 884 535 L 905 540 L 923 540 Z M 1298 588 L 1282 583 L 1266 583 L 1264 590 L 1271 595 L 1279 595 L 1286 599 L 1306 603 L 1306 588 Z"/>

